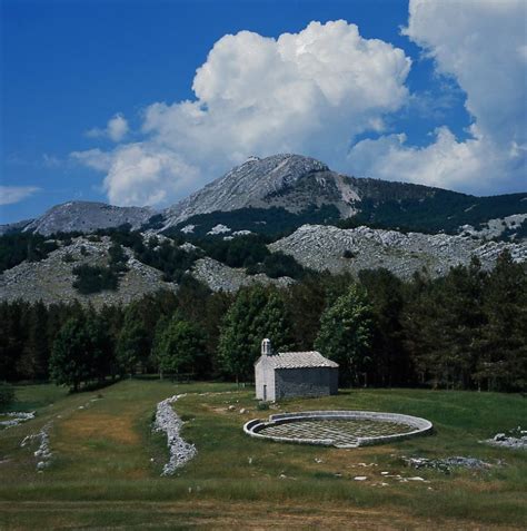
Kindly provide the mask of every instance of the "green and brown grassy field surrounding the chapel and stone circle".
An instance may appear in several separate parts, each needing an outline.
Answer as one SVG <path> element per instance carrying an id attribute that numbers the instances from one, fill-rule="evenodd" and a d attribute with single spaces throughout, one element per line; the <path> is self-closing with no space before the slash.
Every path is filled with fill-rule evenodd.
<path id="1" fill-rule="evenodd" d="M 176 393 L 187 393 L 175 409 L 198 455 L 177 475 L 160 478 L 168 453 L 163 436 L 151 434 L 151 421 L 157 402 Z M 77 395 L 52 385 L 18 387 L 13 409 L 37 410 L 37 417 L 0 432 L 0 529 L 527 528 L 527 452 L 478 443 L 525 425 L 527 399 L 351 390 L 280 404 L 277 411 L 407 413 L 436 427 L 431 436 L 342 450 L 246 436 L 247 420 L 275 412 L 257 411 L 252 396 L 252 390 L 229 384 L 158 381 L 126 381 Z M 20 442 L 50 421 L 53 461 L 37 473 L 36 446 Z M 464 455 L 494 465 L 445 474 L 409 469 L 404 455 Z M 358 475 L 367 480 L 354 480 Z"/>

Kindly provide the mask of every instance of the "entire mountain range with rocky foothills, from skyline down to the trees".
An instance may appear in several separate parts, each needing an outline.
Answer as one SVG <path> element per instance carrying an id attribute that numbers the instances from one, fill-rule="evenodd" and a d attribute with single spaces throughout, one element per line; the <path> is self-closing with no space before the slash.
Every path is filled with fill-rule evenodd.
<path id="1" fill-rule="evenodd" d="M 117 230 L 92 234 L 107 228 Z M 231 292 L 285 286 L 306 269 L 435 277 L 473 256 L 491 268 L 503 250 L 526 263 L 527 194 L 475 197 L 275 155 L 251 157 L 162 212 L 70 201 L 2 234 L 0 299 L 100 306 L 175 291 L 186 274 Z"/>

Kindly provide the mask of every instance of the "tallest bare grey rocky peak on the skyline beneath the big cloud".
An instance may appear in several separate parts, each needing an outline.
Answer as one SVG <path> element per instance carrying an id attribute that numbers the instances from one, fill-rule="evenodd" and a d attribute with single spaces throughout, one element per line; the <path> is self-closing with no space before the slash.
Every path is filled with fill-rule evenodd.
<path id="1" fill-rule="evenodd" d="M 198 215 L 245 208 L 284 208 L 300 214 L 308 208 L 332 206 L 339 218 L 362 210 L 364 201 L 419 201 L 446 193 L 427 186 L 348 177 L 324 163 L 300 155 L 251 157 L 163 214 L 166 226 L 178 225 Z"/>

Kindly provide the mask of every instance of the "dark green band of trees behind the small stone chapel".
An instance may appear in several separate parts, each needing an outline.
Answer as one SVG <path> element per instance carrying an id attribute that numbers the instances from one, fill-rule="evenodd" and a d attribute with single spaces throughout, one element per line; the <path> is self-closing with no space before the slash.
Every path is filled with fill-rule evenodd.
<path id="1" fill-rule="evenodd" d="M 527 390 L 527 271 L 503 254 L 441 278 L 386 269 L 306 274 L 286 289 L 211 293 L 189 276 L 177 294 L 127 306 L 0 304 L 0 380 L 73 390 L 138 373 L 249 382 L 264 337 L 317 348 L 341 385 Z"/>

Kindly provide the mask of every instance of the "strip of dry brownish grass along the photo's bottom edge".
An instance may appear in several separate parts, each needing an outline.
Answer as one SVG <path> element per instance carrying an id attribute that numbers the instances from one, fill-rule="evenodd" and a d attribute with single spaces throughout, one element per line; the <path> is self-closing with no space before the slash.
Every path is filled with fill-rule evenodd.
<path id="1" fill-rule="evenodd" d="M 2 529 L 28 529 L 18 511 L 29 511 L 42 529 L 220 529 L 220 530 L 517 530 L 445 519 L 415 518 L 396 510 L 346 507 L 305 507 L 294 504 L 179 502 L 21 502 L 17 507 L 0 502 Z M 10 515 L 17 525 L 11 527 Z M 1 521 L 0 521 L 1 522 Z"/>

